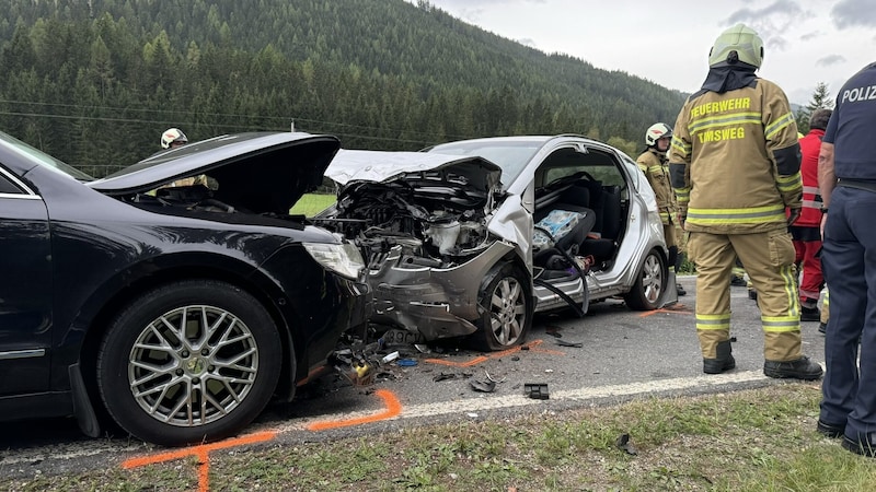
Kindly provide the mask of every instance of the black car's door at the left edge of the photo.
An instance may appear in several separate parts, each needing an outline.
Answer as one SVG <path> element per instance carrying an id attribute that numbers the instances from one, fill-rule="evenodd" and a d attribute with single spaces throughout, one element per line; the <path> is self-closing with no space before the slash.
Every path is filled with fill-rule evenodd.
<path id="1" fill-rule="evenodd" d="M 0 165 L 0 397 L 48 388 L 48 225 L 43 199 Z"/>

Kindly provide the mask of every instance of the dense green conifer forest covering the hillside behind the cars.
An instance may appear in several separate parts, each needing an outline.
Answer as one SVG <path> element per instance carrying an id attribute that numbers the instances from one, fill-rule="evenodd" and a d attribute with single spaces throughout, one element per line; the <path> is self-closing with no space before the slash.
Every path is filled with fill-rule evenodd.
<path id="1" fill-rule="evenodd" d="M 10 0 L 0 129 L 103 176 L 191 141 L 299 130 L 345 148 L 583 133 L 638 141 L 683 94 L 404 0 Z"/>

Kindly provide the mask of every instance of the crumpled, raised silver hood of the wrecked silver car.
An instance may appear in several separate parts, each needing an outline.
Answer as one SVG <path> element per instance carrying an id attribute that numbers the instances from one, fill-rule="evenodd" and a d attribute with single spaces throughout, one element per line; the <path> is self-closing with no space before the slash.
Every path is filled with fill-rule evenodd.
<path id="1" fill-rule="evenodd" d="M 498 187 L 502 168 L 485 159 L 469 155 L 341 150 L 325 176 L 339 185 L 413 178 L 454 181 L 486 191 Z"/>

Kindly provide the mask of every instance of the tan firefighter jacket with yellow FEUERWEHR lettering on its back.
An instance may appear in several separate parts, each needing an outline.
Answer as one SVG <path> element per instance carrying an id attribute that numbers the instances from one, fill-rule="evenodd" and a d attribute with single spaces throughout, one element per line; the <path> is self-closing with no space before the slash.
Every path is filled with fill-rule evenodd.
<path id="1" fill-rule="evenodd" d="M 684 230 L 746 234 L 787 227 L 800 208 L 797 124 L 785 93 L 752 78 L 744 86 L 703 89 L 681 108 L 669 154 Z"/>

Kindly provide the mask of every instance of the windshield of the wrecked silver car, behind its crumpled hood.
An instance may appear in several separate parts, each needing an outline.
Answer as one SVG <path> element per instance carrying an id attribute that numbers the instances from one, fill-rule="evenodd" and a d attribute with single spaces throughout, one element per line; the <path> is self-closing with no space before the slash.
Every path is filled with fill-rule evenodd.
<path id="1" fill-rule="evenodd" d="M 428 152 L 486 159 L 502 167 L 502 183 L 507 187 L 543 144 L 543 140 L 470 140 L 435 145 Z"/>

